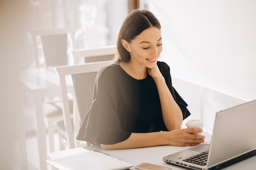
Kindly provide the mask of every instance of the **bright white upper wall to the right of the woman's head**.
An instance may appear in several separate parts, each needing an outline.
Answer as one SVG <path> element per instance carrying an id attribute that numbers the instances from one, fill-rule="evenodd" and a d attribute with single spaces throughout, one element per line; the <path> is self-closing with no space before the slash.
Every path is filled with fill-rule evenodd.
<path id="1" fill-rule="evenodd" d="M 171 75 L 256 99 L 255 0 L 148 0 Z"/>

